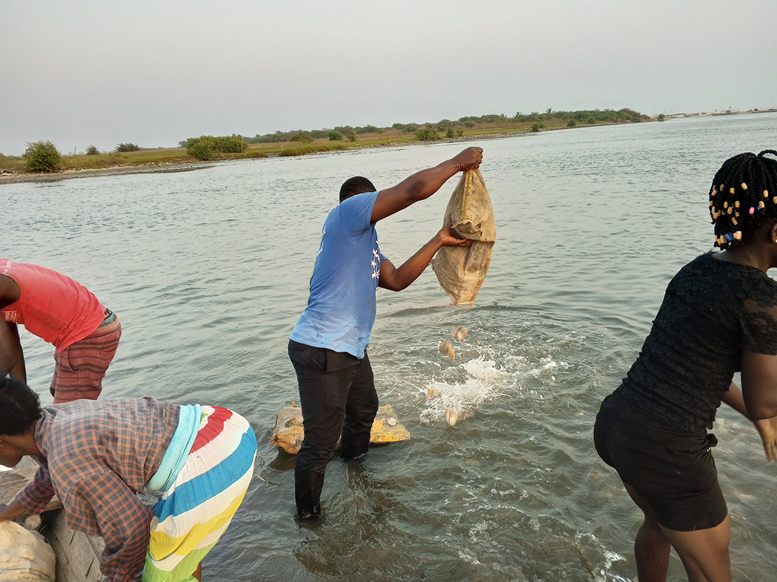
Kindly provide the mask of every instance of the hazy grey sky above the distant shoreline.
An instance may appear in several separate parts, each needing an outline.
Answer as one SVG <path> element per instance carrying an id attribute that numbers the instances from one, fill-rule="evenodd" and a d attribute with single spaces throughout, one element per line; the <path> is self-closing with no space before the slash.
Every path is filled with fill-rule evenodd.
<path id="1" fill-rule="evenodd" d="M 0 0 L 0 152 L 773 106 L 777 2 Z"/>

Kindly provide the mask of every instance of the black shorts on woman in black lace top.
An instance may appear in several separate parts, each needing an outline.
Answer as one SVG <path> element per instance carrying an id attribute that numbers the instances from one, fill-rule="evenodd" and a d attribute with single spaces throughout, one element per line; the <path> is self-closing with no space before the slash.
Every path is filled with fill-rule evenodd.
<path id="1" fill-rule="evenodd" d="M 728 510 L 711 448 L 715 435 L 691 435 L 612 393 L 601 403 L 594 445 L 621 480 L 646 498 L 660 525 L 679 532 L 713 528 Z"/>

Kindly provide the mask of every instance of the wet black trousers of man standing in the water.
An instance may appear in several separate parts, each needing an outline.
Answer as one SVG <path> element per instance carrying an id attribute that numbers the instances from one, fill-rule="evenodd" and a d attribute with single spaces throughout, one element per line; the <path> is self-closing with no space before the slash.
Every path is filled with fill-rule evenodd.
<path id="1" fill-rule="evenodd" d="M 291 340 L 288 353 L 297 372 L 305 427 L 294 466 L 294 496 L 298 514 L 317 514 L 326 464 L 338 439 L 342 459 L 367 453 L 378 393 L 366 352 L 359 359 Z"/>

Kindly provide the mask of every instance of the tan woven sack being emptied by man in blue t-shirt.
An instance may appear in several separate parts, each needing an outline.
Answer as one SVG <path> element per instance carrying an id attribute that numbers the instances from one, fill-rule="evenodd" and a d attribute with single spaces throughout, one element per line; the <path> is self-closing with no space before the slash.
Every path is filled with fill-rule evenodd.
<path id="1" fill-rule="evenodd" d="M 491 265 L 497 240 L 491 197 L 480 170 L 469 170 L 448 200 L 443 226 L 452 225 L 453 234 L 474 241 L 469 247 L 443 247 L 432 259 L 437 280 L 455 305 L 472 305 Z"/>

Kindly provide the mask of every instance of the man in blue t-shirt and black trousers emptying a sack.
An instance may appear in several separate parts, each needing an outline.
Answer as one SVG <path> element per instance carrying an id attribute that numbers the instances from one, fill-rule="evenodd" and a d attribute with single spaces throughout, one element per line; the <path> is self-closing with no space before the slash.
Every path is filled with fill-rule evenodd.
<path id="1" fill-rule="evenodd" d="M 340 457 L 367 454 L 378 411 L 367 345 L 375 323 L 378 286 L 399 291 L 415 281 L 444 246 L 465 247 L 442 228 L 395 267 L 378 247 L 375 223 L 427 199 L 459 171 L 479 168 L 483 149 L 468 147 L 450 160 L 375 191 L 367 178 L 349 178 L 340 204 L 324 221 L 310 279 L 308 307 L 291 332 L 288 352 L 297 372 L 305 439 L 294 467 L 298 518 L 319 514 L 326 463 L 340 439 Z"/>

